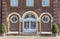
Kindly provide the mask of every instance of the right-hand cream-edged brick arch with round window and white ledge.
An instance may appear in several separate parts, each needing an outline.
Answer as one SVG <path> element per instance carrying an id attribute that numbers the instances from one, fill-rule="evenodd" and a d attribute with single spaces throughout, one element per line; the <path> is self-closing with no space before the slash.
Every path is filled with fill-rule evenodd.
<path id="1" fill-rule="evenodd" d="M 52 34 L 53 17 L 50 13 L 44 12 L 40 15 L 41 34 Z"/>

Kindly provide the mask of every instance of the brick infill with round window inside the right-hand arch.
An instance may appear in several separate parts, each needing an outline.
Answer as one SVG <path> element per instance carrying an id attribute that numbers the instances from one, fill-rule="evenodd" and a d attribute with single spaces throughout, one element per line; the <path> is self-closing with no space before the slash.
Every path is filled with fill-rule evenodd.
<path id="1" fill-rule="evenodd" d="M 48 15 L 41 17 L 41 32 L 51 32 L 51 18 Z"/>

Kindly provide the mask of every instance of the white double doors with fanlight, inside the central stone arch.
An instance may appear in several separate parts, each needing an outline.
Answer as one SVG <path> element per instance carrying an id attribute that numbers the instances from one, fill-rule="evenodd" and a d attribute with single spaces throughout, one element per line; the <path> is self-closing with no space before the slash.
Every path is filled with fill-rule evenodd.
<path id="1" fill-rule="evenodd" d="M 25 33 L 36 33 L 36 18 L 33 15 L 26 15 L 24 18 L 24 30 Z"/>

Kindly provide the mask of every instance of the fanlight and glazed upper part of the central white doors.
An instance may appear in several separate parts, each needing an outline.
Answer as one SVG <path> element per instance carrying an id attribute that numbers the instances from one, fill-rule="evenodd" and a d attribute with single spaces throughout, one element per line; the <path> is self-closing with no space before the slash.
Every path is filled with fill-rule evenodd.
<path id="1" fill-rule="evenodd" d="M 35 28 L 36 27 L 36 19 L 33 15 L 26 15 L 24 19 L 25 28 Z M 30 27 L 29 27 L 30 26 Z"/>

